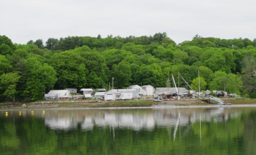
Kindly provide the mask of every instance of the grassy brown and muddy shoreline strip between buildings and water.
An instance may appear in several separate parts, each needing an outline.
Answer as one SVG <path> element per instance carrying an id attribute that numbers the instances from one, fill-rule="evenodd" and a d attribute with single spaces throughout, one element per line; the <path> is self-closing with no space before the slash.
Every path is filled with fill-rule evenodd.
<path id="1" fill-rule="evenodd" d="M 218 105 L 217 102 L 207 103 L 199 99 L 189 98 L 173 101 L 95 101 L 95 100 L 51 100 L 25 103 L 0 103 L 0 110 L 31 110 L 31 109 L 118 109 L 118 108 L 205 108 L 205 107 L 256 107 L 256 100 L 221 98 L 232 105 Z"/>

